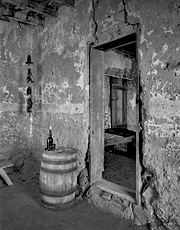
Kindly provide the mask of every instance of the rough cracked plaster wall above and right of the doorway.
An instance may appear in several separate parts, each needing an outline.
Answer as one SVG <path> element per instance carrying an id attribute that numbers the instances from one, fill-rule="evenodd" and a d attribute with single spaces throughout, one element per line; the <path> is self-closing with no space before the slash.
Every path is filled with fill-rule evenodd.
<path id="1" fill-rule="evenodd" d="M 99 1 L 97 41 L 110 41 L 140 24 L 143 128 L 143 202 L 169 229 L 180 225 L 180 3 Z M 149 184 L 149 187 L 148 187 Z"/>

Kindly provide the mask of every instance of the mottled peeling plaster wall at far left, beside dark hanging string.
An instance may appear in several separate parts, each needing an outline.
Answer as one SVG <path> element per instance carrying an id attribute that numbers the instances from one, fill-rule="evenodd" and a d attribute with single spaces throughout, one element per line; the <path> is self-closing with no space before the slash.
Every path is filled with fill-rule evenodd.
<path id="1" fill-rule="evenodd" d="M 34 33 L 16 22 L 0 22 L 0 158 L 13 158 L 14 163 L 32 150 L 26 61 L 33 52 Z"/>

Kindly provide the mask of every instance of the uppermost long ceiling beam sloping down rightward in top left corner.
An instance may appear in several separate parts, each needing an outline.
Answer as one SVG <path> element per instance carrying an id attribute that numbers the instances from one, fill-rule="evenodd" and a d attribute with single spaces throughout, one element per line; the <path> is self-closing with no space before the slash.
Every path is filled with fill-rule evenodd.
<path id="1" fill-rule="evenodd" d="M 43 6 L 37 4 L 37 3 L 33 3 L 33 4 L 27 4 L 25 3 L 25 1 L 21 1 L 21 3 L 17 0 L 6 0 L 7 3 L 10 3 L 10 4 L 13 4 L 13 5 L 16 5 L 18 6 L 19 8 L 25 8 L 27 9 L 28 11 L 33 11 L 35 13 L 38 13 L 38 14 L 42 14 L 44 16 L 53 16 L 53 17 L 56 17 L 57 16 L 57 13 L 55 11 L 52 11 L 50 9 L 45 9 Z"/>

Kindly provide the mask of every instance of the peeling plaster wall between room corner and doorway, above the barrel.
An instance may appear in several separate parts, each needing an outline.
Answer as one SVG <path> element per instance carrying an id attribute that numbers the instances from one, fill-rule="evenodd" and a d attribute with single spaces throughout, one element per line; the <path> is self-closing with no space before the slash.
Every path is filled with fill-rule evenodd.
<path id="1" fill-rule="evenodd" d="M 39 34 L 38 78 L 42 89 L 42 120 L 58 146 L 78 149 L 79 169 L 85 166 L 89 129 L 89 2 L 61 7 L 58 19 L 48 19 Z"/>

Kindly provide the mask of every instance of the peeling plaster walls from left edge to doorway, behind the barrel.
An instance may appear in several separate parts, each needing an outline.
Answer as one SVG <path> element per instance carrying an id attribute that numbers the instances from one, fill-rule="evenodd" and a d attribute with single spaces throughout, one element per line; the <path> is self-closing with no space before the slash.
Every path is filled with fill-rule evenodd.
<path id="1" fill-rule="evenodd" d="M 43 29 L 1 22 L 1 158 L 16 161 L 29 152 L 39 158 L 51 125 L 56 147 L 76 148 L 79 169 L 85 167 L 91 13 L 88 1 L 77 1 L 76 9 L 61 7 L 59 17 L 48 18 Z M 26 113 L 28 54 L 34 62 L 31 118 Z"/>

